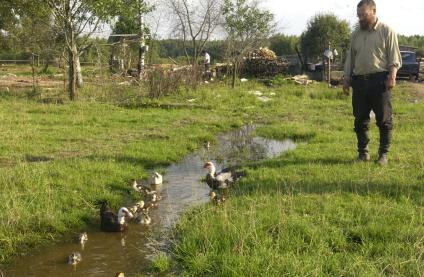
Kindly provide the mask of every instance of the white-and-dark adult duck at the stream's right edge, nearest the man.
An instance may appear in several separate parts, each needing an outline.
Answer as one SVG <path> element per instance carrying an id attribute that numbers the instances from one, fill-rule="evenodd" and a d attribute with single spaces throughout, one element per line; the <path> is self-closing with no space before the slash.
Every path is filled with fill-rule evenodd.
<path id="1" fill-rule="evenodd" d="M 206 162 L 203 168 L 208 170 L 206 184 L 208 184 L 211 189 L 226 189 L 240 177 L 246 175 L 244 171 L 237 172 L 234 167 L 223 169 L 221 172 L 217 173 L 213 162 Z"/>

